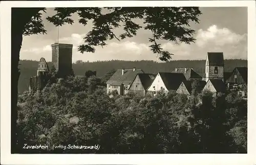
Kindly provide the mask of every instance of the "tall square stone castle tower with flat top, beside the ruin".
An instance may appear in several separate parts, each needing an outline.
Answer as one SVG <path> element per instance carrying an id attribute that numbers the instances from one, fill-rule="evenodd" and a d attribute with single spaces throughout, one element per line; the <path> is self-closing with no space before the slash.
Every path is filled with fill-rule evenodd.
<path id="1" fill-rule="evenodd" d="M 52 62 L 59 77 L 72 74 L 72 48 L 72 44 L 52 44 Z"/>

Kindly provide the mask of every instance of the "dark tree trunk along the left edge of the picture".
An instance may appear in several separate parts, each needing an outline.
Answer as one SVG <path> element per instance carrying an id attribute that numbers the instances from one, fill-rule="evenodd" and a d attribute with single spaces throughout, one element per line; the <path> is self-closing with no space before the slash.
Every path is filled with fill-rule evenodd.
<path id="1" fill-rule="evenodd" d="M 22 47 L 23 31 L 32 16 L 39 12 L 36 8 L 12 8 L 11 13 L 11 153 L 22 149 L 17 143 L 17 101 L 18 78 L 20 75 L 19 51 Z"/>

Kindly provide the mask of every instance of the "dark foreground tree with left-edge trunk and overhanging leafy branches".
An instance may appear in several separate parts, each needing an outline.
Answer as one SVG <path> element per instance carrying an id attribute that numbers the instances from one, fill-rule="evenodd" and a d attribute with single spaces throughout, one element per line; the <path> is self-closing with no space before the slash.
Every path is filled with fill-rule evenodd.
<path id="1" fill-rule="evenodd" d="M 145 24 L 144 30 L 150 30 L 153 37 L 149 39 L 152 43 L 151 50 L 159 54 L 159 59 L 168 61 L 172 53 L 162 50 L 157 40 L 168 40 L 175 43 L 194 42 L 194 30 L 189 28 L 189 22 L 199 22 L 201 14 L 198 7 L 160 8 L 160 7 L 139 7 L 139 8 L 104 8 L 108 12 L 103 14 L 100 8 L 55 8 L 57 14 L 47 17 L 47 20 L 56 26 L 65 23 L 72 24 L 73 13 L 80 17 L 79 23 L 87 25 L 93 20 L 93 28 L 84 38 L 83 45 L 78 50 L 83 52 L 95 52 L 95 46 L 105 46 L 105 41 L 117 39 L 122 40 L 133 37 L 141 25 L 135 23 L 134 19 L 141 19 Z M 11 153 L 16 153 L 16 119 L 17 119 L 17 85 L 20 75 L 18 69 L 19 51 L 22 46 L 23 35 L 46 34 L 42 23 L 41 13 L 46 12 L 45 8 L 12 8 L 11 18 Z M 123 24 L 121 24 L 123 23 Z M 123 26 L 124 33 L 117 37 L 114 30 Z"/>

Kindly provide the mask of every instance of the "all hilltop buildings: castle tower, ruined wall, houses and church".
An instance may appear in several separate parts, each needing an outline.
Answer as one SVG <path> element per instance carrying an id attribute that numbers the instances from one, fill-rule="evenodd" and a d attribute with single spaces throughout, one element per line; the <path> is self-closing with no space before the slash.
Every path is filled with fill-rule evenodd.
<path id="1" fill-rule="evenodd" d="M 72 44 L 52 44 L 52 62 L 58 77 L 72 73 Z M 38 63 L 37 75 L 30 78 L 30 92 L 42 90 L 49 81 L 49 67 L 44 58 Z M 223 52 L 207 52 L 205 74 L 202 77 L 193 68 L 176 68 L 170 72 L 157 74 L 145 73 L 142 69 L 118 69 L 106 82 L 106 92 L 117 91 L 119 95 L 135 93 L 141 96 L 156 95 L 160 90 L 191 95 L 193 83 L 197 82 L 196 91 L 224 93 L 226 89 L 237 91 L 247 98 L 247 67 L 234 68 L 224 72 Z"/>

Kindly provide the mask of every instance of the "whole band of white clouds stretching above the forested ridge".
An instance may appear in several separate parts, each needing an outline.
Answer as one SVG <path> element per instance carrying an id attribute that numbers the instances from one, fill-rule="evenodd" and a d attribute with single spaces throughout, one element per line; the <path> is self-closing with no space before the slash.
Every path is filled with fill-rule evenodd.
<path id="1" fill-rule="evenodd" d="M 150 50 L 151 43 L 141 42 L 138 36 L 133 40 L 124 40 L 121 42 L 108 41 L 108 45 L 101 48 L 96 47 L 95 53 L 77 51 L 78 45 L 83 43 L 86 34 L 71 33 L 69 36 L 59 39 L 60 43 L 73 44 L 73 62 L 82 61 L 106 61 L 106 60 L 154 60 L 159 61 L 156 54 Z M 139 38 L 148 38 L 143 35 Z M 236 34 L 227 28 L 219 28 L 217 25 L 211 25 L 207 29 L 200 29 L 195 34 L 196 42 L 191 44 L 175 44 L 173 42 L 160 41 L 163 50 L 174 53 L 173 60 L 202 60 L 206 58 L 209 51 L 221 51 L 225 59 L 247 59 L 247 34 Z M 38 60 L 45 57 L 51 60 L 51 41 L 44 42 L 41 47 L 22 49 L 24 58 Z M 31 56 L 31 54 L 37 56 Z M 39 57 L 40 56 L 40 57 Z"/>

